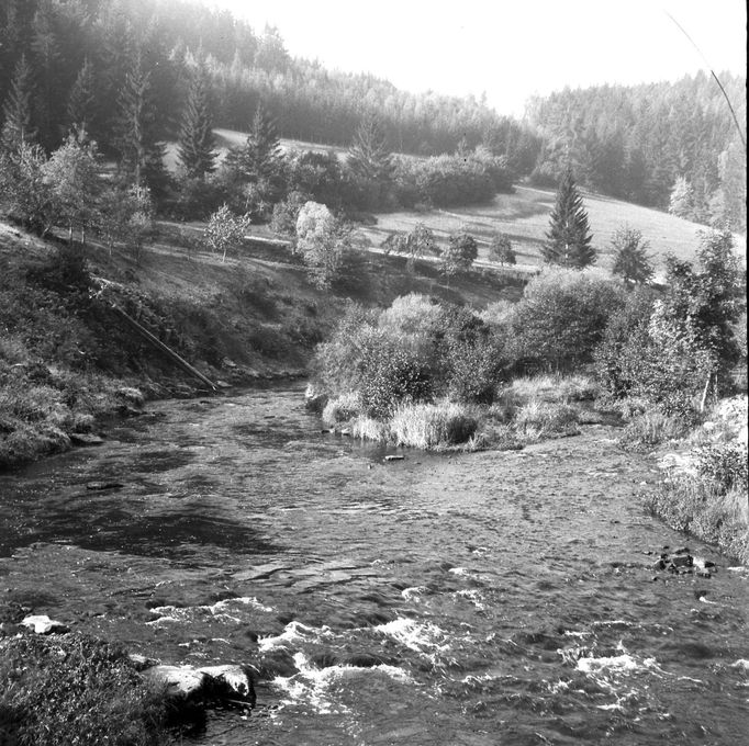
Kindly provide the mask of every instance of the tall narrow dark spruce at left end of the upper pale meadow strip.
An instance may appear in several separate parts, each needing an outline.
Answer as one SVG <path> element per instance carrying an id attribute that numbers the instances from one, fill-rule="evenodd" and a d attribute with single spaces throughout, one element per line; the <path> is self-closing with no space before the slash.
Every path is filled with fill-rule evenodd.
<path id="1" fill-rule="evenodd" d="M 188 179 L 204 179 L 215 169 L 213 118 L 208 100 L 208 84 L 202 70 L 192 77 L 179 133 L 178 152 Z"/>

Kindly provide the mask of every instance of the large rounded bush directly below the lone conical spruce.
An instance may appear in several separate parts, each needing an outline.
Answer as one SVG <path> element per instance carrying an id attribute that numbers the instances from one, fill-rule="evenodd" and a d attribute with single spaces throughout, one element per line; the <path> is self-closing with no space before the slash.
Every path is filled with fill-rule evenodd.
<path id="1" fill-rule="evenodd" d="M 622 303 L 608 281 L 571 270 L 543 272 L 526 285 L 510 320 L 515 359 L 556 369 L 591 360 Z"/>

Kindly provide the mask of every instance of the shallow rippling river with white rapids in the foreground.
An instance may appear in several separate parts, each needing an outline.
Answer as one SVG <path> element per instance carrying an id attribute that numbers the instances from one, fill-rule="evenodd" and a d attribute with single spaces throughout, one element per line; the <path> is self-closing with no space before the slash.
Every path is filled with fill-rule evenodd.
<path id="1" fill-rule="evenodd" d="M 749 743 L 749 575 L 684 538 L 616 430 L 429 455 L 321 433 L 301 391 L 154 405 L 0 476 L 0 591 L 166 663 L 247 663 L 197 743 Z"/>

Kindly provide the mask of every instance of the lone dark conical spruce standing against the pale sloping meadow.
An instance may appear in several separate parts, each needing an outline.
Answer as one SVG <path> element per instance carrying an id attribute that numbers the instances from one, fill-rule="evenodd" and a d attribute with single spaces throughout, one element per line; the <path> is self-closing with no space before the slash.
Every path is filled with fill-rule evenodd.
<path id="1" fill-rule="evenodd" d="M 557 190 L 557 203 L 546 238 L 541 255 L 547 263 L 573 269 L 595 263 L 596 251 L 591 246 L 593 235 L 588 225 L 588 213 L 570 168 Z"/>

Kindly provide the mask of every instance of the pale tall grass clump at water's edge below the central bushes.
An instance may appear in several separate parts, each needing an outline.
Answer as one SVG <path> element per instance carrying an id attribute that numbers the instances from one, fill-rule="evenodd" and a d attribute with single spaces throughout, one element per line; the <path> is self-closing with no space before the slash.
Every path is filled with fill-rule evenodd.
<path id="1" fill-rule="evenodd" d="M 452 402 L 401 404 L 390 420 L 398 445 L 444 449 L 465 443 L 476 434 L 479 419 L 471 407 Z"/>

